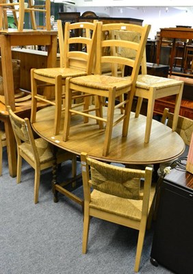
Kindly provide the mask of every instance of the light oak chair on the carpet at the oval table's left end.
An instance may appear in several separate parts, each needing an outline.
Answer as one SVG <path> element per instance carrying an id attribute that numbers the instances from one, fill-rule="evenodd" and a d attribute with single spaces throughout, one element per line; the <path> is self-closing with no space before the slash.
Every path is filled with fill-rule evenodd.
<path id="1" fill-rule="evenodd" d="M 60 164 L 66 160 L 72 160 L 72 175 L 76 175 L 76 155 L 63 149 L 57 149 L 53 153 L 52 145 L 43 138 L 34 139 L 29 119 L 21 119 L 8 106 L 10 121 L 16 139 L 17 147 L 17 184 L 21 182 L 22 158 L 35 170 L 34 179 L 34 203 L 38 203 L 40 186 L 40 171 Z"/>

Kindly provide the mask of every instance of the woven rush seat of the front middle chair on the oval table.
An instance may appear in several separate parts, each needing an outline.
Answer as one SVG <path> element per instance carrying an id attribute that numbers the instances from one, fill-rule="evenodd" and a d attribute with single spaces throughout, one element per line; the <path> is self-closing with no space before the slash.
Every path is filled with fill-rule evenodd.
<path id="1" fill-rule="evenodd" d="M 122 77 L 113 77 L 108 75 L 86 75 L 83 77 L 75 77 L 70 79 L 70 83 L 86 86 L 88 88 L 99 88 L 108 90 L 110 87 L 116 86 L 116 90 L 131 86 L 131 79 Z"/>

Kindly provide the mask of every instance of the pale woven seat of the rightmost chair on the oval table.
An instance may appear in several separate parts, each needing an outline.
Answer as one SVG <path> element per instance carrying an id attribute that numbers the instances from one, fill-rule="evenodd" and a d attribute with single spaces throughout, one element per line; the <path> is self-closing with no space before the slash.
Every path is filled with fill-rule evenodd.
<path id="1" fill-rule="evenodd" d="M 126 79 L 130 78 L 125 77 Z M 137 88 L 144 88 L 146 90 L 149 90 L 151 87 L 155 87 L 158 89 L 162 88 L 168 88 L 170 86 L 179 86 L 179 84 L 183 83 L 183 81 L 175 80 L 175 79 L 169 79 L 165 77 L 158 77 L 154 75 L 138 75 L 138 79 L 136 82 Z"/>

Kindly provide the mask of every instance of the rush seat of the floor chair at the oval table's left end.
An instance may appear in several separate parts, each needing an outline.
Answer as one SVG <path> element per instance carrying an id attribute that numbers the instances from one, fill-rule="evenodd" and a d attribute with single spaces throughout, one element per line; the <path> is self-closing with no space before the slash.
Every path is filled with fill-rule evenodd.
<path id="1" fill-rule="evenodd" d="M 35 139 L 36 148 L 40 157 L 40 163 L 44 163 L 50 160 L 54 160 L 51 150 L 51 144 L 42 138 Z M 25 153 L 31 161 L 34 162 L 34 154 L 31 149 L 31 145 L 27 142 L 23 142 L 19 148 Z"/>

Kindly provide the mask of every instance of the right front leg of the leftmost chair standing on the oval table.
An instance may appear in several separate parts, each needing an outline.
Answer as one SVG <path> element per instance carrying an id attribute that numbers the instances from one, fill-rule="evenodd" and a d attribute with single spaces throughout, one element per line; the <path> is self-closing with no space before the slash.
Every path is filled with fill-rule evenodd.
<path id="1" fill-rule="evenodd" d="M 60 121 L 62 116 L 62 75 L 55 77 L 55 119 L 54 135 L 60 132 Z"/>

